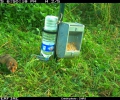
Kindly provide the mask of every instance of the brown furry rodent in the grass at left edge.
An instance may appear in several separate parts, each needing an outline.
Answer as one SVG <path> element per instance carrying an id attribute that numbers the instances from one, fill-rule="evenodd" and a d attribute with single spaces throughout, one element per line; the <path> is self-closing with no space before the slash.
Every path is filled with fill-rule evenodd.
<path id="1" fill-rule="evenodd" d="M 17 61 L 9 54 L 0 55 L 0 63 L 5 64 L 11 72 L 15 72 L 17 69 Z"/>

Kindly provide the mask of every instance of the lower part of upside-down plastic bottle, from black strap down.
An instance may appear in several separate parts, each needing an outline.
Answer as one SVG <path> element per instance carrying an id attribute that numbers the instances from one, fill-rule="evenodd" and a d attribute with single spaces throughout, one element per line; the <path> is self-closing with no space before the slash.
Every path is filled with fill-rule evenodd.
<path id="1" fill-rule="evenodd" d="M 48 32 L 43 30 L 42 32 L 42 45 L 41 45 L 41 54 L 45 58 L 49 58 L 54 53 L 56 41 L 56 32 Z"/>

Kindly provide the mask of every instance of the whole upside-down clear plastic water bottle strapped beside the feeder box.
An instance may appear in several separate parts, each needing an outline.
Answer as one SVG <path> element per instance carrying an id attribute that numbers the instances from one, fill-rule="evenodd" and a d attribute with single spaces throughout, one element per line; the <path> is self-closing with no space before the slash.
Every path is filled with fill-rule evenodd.
<path id="1" fill-rule="evenodd" d="M 42 32 L 41 54 L 49 58 L 54 53 L 58 17 L 48 15 L 45 17 L 45 25 Z"/>

